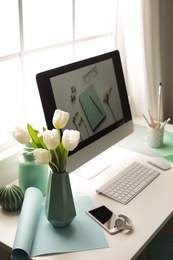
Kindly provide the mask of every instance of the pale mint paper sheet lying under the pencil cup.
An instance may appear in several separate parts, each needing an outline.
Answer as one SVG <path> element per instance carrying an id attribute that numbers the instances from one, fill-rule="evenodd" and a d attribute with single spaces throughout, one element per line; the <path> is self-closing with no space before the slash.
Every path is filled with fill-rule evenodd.
<path id="1" fill-rule="evenodd" d="M 162 156 L 173 162 L 173 133 L 165 131 L 163 147 L 151 148 L 146 144 L 147 127 L 134 124 L 134 132 L 117 143 L 117 146 L 149 156 Z"/>

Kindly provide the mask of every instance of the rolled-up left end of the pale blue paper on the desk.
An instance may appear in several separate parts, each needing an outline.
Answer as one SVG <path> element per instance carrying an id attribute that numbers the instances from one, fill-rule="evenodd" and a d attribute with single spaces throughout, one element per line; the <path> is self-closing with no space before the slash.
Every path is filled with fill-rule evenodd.
<path id="1" fill-rule="evenodd" d="M 13 260 L 27 260 L 29 257 L 40 214 L 42 198 L 42 192 L 35 187 L 30 187 L 25 192 L 12 249 Z"/>

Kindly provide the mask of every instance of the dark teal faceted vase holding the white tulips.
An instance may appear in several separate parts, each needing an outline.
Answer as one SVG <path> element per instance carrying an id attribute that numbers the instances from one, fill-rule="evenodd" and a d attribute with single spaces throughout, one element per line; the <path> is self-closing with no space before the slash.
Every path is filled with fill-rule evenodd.
<path id="1" fill-rule="evenodd" d="M 45 214 L 52 226 L 64 228 L 76 216 L 69 173 L 50 173 Z"/>

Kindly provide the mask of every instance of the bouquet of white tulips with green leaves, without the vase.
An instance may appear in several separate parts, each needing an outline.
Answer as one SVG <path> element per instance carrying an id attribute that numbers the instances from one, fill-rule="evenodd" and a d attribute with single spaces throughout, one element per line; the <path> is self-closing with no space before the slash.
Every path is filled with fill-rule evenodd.
<path id="1" fill-rule="evenodd" d="M 69 113 L 56 109 L 52 123 L 52 130 L 43 128 L 43 132 L 35 130 L 27 124 L 27 130 L 16 127 L 11 133 L 21 144 L 29 144 L 34 148 L 35 161 L 41 164 L 49 164 L 51 170 L 63 173 L 67 170 L 68 152 L 73 151 L 80 140 L 80 133 L 76 130 L 61 130 L 69 120 Z"/>

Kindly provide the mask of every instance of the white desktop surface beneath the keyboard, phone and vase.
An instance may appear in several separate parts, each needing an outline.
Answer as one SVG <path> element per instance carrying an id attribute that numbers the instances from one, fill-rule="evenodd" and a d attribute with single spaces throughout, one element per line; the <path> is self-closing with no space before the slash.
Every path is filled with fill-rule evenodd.
<path id="1" fill-rule="evenodd" d="M 169 125 L 167 129 L 173 131 L 173 126 Z M 109 248 L 34 257 L 34 260 L 136 259 L 173 215 L 173 204 L 171 203 L 173 199 L 173 168 L 168 171 L 160 170 L 161 175 L 127 205 L 122 205 L 103 195 L 98 195 L 95 190 L 132 161 L 136 160 L 148 165 L 147 159 L 149 156 L 117 145 L 104 153 L 105 158 L 112 158 L 113 164 L 98 176 L 86 180 L 73 173 L 70 174 L 73 194 L 77 196 L 90 195 L 94 205 L 104 204 L 116 214 L 127 215 L 134 223 L 133 233 L 125 234 L 122 232 L 111 236 L 105 232 Z M 18 218 L 17 213 L 9 214 L 0 209 L 0 241 L 11 247 L 15 238 Z"/>

